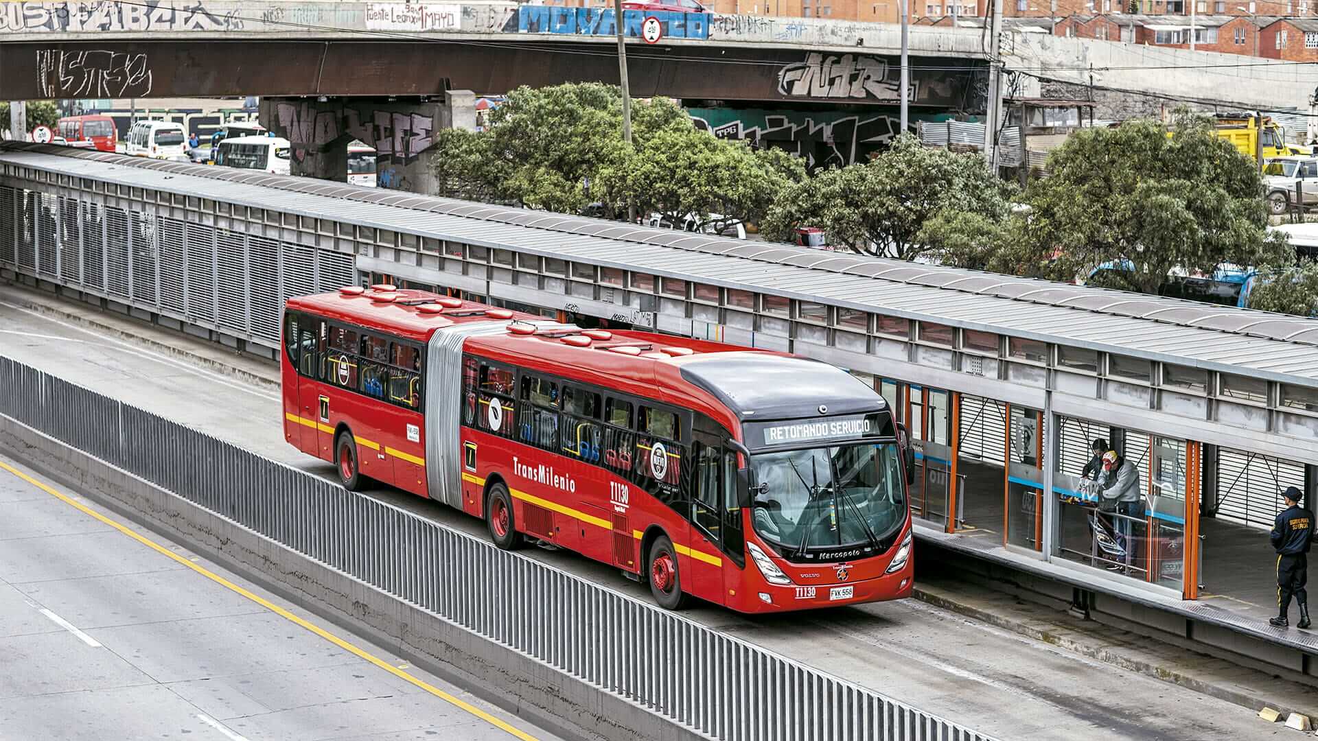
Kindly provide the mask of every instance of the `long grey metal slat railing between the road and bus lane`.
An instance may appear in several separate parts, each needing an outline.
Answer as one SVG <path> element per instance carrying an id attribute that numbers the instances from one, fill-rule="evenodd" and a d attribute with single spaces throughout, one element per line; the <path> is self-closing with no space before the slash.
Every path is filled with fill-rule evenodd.
<path id="1" fill-rule="evenodd" d="M 710 738 L 991 741 L 7 357 L 0 414 Z"/>

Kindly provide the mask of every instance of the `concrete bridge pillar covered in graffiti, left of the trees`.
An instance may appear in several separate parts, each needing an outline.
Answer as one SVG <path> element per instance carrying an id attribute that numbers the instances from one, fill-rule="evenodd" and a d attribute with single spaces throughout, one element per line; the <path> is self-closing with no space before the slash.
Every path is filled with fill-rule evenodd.
<path id="1" fill-rule="evenodd" d="M 434 193 L 426 152 L 443 128 L 476 128 L 476 95 L 452 90 L 443 100 L 262 98 L 261 125 L 293 145 L 290 170 L 327 181 L 348 179 L 348 144 L 376 149 L 380 187 Z"/>

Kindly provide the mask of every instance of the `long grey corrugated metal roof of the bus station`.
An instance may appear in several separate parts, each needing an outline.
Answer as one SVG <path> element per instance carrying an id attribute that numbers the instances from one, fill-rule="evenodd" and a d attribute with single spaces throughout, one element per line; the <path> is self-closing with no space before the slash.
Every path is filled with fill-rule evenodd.
<path id="1" fill-rule="evenodd" d="M 1311 319 L 63 148 L 5 142 L 0 162 L 1318 386 Z"/>

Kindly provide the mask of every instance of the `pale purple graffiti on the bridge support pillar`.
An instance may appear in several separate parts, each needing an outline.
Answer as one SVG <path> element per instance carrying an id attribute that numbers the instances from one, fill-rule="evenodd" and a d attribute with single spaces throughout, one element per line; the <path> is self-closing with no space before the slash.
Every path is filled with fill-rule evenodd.
<path id="1" fill-rule="evenodd" d="M 274 129 L 289 140 L 299 162 L 308 152 L 323 150 L 344 137 L 373 146 L 381 165 L 411 163 L 434 144 L 431 115 L 370 105 L 323 108 L 311 103 L 278 103 L 274 112 Z"/>

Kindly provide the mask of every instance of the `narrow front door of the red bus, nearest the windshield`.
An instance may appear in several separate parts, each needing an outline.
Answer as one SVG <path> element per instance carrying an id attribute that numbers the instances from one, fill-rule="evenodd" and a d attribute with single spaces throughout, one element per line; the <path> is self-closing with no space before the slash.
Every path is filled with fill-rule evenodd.
<path id="1" fill-rule="evenodd" d="M 724 451 L 696 436 L 696 487 L 691 501 L 691 583 L 687 589 L 702 600 L 724 604 Z"/>

